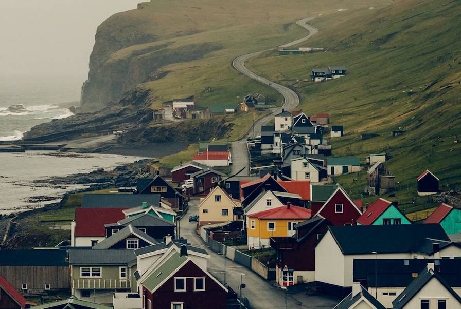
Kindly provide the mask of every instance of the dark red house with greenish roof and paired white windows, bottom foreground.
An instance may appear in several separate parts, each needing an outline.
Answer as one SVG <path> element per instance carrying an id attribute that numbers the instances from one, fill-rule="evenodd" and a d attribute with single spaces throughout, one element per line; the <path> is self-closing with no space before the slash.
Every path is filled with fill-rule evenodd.
<path id="1" fill-rule="evenodd" d="M 227 288 L 187 255 L 186 246 L 142 283 L 143 308 L 227 308 Z"/>

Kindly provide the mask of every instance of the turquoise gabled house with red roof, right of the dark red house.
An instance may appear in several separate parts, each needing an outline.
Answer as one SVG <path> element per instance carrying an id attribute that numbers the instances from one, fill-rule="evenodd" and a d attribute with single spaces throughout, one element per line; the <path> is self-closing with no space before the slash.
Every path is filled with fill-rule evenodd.
<path id="1" fill-rule="evenodd" d="M 357 225 L 411 224 L 395 202 L 379 198 L 357 219 Z"/>

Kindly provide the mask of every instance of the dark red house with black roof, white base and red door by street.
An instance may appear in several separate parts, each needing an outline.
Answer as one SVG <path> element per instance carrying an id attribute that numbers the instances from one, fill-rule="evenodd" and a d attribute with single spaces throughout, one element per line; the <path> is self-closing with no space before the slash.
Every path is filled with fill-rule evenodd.
<path id="1" fill-rule="evenodd" d="M 292 237 L 271 237 L 276 253 L 275 280 L 281 286 L 315 281 L 315 243 L 331 223 L 320 216 L 295 225 Z M 302 257 L 302 258 L 301 258 Z"/>

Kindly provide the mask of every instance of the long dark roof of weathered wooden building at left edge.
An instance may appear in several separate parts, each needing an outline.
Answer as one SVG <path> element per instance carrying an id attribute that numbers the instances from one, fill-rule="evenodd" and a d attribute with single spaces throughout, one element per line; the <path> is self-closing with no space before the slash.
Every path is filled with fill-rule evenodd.
<path id="1" fill-rule="evenodd" d="M 64 249 L 2 249 L 2 266 L 69 266 Z"/>

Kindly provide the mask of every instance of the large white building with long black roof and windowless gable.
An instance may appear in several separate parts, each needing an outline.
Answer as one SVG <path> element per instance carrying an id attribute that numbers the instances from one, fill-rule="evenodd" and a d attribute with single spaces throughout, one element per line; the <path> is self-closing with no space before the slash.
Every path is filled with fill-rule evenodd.
<path id="1" fill-rule="evenodd" d="M 315 281 L 328 293 L 346 295 L 354 259 L 455 256 L 461 256 L 461 248 L 439 224 L 329 226 L 315 247 Z"/>

